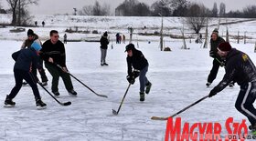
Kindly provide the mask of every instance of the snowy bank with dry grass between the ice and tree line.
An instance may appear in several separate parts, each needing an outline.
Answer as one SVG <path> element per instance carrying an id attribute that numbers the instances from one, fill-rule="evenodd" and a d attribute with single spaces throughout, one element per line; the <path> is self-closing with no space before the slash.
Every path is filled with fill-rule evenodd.
<path id="1" fill-rule="evenodd" d="M 0 15 L 0 23 L 10 23 L 11 15 Z M 29 23 L 34 25 L 37 21 L 39 27 L 25 27 L 26 29 L 32 28 L 43 40 L 48 39 L 48 32 L 52 29 L 56 29 L 60 33 L 60 38 L 64 35 L 67 29 L 78 30 L 80 33 L 68 34 L 69 40 L 81 40 L 81 41 L 95 41 L 99 40 L 102 33 L 108 31 L 111 40 L 115 39 L 116 33 L 121 33 L 129 38 L 128 27 L 133 27 L 133 40 L 148 41 L 148 40 L 159 40 L 159 36 L 147 36 L 138 35 L 140 33 L 144 34 L 154 34 L 155 32 L 160 32 L 161 17 L 136 17 L 136 16 L 81 16 L 81 15 L 34 15 L 33 21 Z M 45 21 L 46 25 L 41 28 L 41 22 Z M 181 35 L 180 30 L 183 27 L 182 17 L 164 17 L 164 34 L 166 35 Z M 230 39 L 238 35 L 240 32 L 240 38 L 244 36 L 246 32 L 249 42 L 255 39 L 256 32 L 255 19 L 242 19 L 242 18 L 221 18 L 220 24 L 233 23 L 231 25 L 220 25 L 219 35 L 226 35 L 226 28 L 229 28 Z M 208 31 L 211 32 L 217 27 L 219 23 L 218 18 L 213 18 L 209 21 Z M 185 35 L 187 37 L 192 36 L 193 40 L 197 35 L 192 34 L 193 31 L 184 25 Z M 7 28 L 0 28 L 1 34 L 0 39 L 15 39 L 23 40 L 26 38 L 26 33 L 10 33 L 9 30 L 13 27 L 8 26 Z M 201 30 L 201 33 L 205 33 L 205 28 Z M 26 30 L 27 31 L 27 30 Z M 92 31 L 97 31 L 99 34 L 92 34 Z M 84 32 L 86 34 L 82 34 Z M 87 33 L 89 32 L 89 34 Z M 203 36 L 204 37 L 204 36 Z M 165 41 L 173 41 L 176 39 L 165 36 Z M 234 41 L 235 42 L 235 41 Z"/>

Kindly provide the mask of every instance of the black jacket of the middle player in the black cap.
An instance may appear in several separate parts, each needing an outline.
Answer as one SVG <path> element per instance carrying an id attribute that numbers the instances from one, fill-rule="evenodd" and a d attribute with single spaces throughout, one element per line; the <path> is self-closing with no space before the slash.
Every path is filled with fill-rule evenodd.
<path id="1" fill-rule="evenodd" d="M 127 55 L 126 61 L 127 61 L 129 76 L 132 75 L 133 69 L 142 70 L 146 65 L 148 65 L 148 62 L 144 57 L 143 53 L 135 48 L 133 49 L 133 56 Z"/>

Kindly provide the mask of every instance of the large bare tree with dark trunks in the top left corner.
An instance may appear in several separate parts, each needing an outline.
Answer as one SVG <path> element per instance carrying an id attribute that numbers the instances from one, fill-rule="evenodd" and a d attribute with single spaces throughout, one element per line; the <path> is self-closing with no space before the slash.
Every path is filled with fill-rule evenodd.
<path id="1" fill-rule="evenodd" d="M 10 5 L 13 13 L 12 25 L 21 25 L 21 13 L 24 7 L 27 5 L 37 5 L 37 0 L 6 0 L 6 2 Z"/>

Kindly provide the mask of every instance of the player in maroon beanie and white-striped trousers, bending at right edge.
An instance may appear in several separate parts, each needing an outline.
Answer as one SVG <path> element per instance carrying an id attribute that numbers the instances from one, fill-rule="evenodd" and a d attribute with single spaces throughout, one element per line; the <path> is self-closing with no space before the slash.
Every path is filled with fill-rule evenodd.
<path id="1" fill-rule="evenodd" d="M 256 129 L 256 109 L 253 103 L 256 98 L 256 67 L 251 58 L 245 53 L 232 48 L 228 42 L 221 43 L 218 54 L 226 58 L 226 74 L 209 93 L 209 97 L 215 96 L 231 81 L 240 86 L 240 93 L 236 100 L 236 108 L 241 114 L 247 116 L 251 122 L 250 128 Z"/>

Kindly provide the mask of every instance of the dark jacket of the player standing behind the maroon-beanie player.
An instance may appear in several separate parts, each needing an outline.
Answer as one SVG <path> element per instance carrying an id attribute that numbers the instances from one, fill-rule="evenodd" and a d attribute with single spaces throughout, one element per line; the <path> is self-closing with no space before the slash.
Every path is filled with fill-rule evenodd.
<path id="1" fill-rule="evenodd" d="M 220 43 L 225 42 L 225 40 L 218 36 L 216 41 L 213 41 L 212 39 L 210 39 L 210 50 L 209 50 L 209 54 L 211 57 L 213 58 L 218 58 L 219 60 L 221 60 L 221 57 L 218 55 L 218 49 L 217 47 L 219 46 Z"/>

